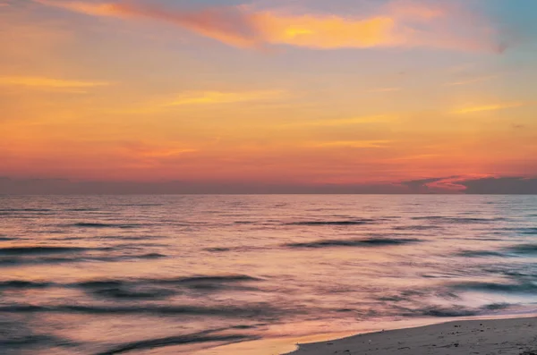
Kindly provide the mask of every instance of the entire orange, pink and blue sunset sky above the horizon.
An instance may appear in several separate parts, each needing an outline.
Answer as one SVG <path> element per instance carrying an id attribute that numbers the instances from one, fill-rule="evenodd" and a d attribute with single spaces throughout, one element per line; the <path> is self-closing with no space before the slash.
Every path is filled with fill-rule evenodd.
<path id="1" fill-rule="evenodd" d="M 0 0 L 0 193 L 535 193 L 535 13 Z"/>

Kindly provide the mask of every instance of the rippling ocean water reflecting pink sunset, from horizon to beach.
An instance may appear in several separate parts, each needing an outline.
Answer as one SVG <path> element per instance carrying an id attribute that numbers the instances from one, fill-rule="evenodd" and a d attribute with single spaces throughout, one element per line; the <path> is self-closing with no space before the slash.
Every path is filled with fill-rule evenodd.
<path id="1" fill-rule="evenodd" d="M 4 196 L 0 353 L 269 354 L 533 314 L 536 261 L 537 196 Z"/>

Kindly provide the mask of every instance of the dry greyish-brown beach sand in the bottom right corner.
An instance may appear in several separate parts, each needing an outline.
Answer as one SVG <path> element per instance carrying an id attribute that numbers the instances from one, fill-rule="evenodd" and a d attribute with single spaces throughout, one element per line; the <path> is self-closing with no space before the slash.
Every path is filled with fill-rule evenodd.
<path id="1" fill-rule="evenodd" d="M 537 318 L 465 320 L 301 344 L 289 355 L 537 355 Z"/>

